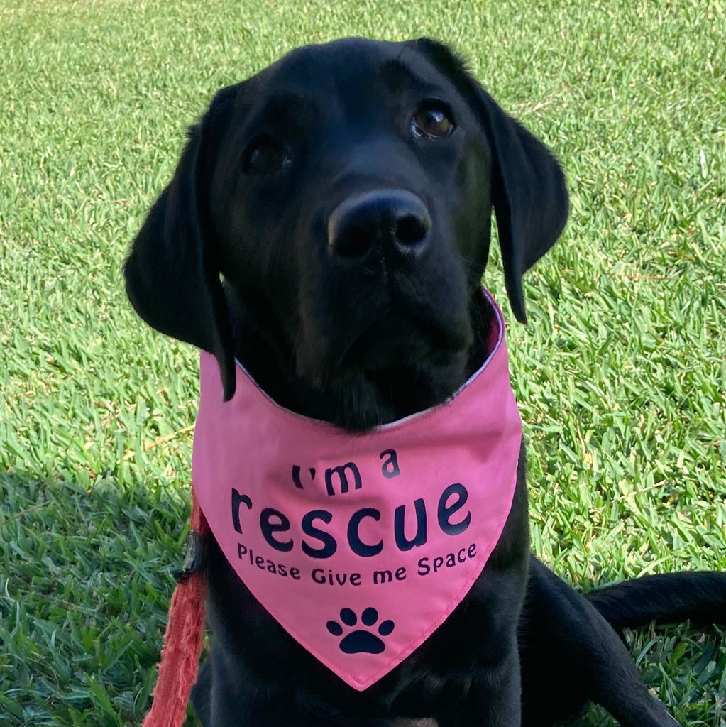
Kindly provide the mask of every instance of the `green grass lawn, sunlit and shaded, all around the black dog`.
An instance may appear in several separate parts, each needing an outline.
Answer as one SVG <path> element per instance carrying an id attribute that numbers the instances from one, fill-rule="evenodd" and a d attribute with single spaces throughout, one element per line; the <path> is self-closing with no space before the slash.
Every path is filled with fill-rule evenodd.
<path id="1" fill-rule="evenodd" d="M 344 35 L 450 42 L 567 170 L 510 329 L 536 551 L 583 589 L 726 569 L 722 0 L 1 0 L 2 727 L 148 708 L 197 355 L 137 320 L 121 263 L 214 91 Z M 722 630 L 629 645 L 682 723 L 726 725 Z"/>

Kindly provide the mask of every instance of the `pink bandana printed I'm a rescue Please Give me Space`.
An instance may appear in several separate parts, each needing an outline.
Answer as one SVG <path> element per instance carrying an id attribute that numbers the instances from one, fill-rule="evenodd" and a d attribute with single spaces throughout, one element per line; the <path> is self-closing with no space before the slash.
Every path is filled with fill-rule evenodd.
<path id="1" fill-rule="evenodd" d="M 522 423 L 501 310 L 492 353 L 446 403 L 356 435 L 278 406 L 201 355 L 193 483 L 225 556 L 320 662 L 363 690 L 420 646 L 499 540 Z"/>

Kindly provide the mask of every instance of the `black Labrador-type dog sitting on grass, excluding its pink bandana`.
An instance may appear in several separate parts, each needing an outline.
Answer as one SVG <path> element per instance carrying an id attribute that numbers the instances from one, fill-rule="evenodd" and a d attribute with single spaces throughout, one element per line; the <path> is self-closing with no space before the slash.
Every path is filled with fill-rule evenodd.
<path id="1" fill-rule="evenodd" d="M 492 209 L 524 321 L 523 273 L 568 216 L 557 161 L 434 41 L 305 47 L 217 94 L 134 241 L 127 291 L 151 326 L 216 356 L 226 398 L 237 358 L 287 409 L 370 430 L 442 403 L 488 353 Z M 565 585 L 528 553 L 521 454 L 483 573 L 364 691 L 299 646 L 214 542 L 207 577 L 193 699 L 219 727 L 546 725 L 587 700 L 626 726 L 672 725 L 610 623 L 726 613 L 720 574 L 589 600 Z"/>

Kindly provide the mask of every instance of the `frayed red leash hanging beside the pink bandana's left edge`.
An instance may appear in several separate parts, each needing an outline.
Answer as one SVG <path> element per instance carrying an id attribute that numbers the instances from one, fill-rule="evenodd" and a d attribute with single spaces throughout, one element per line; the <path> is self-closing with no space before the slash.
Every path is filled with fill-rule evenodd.
<path id="1" fill-rule="evenodd" d="M 209 532 L 209 525 L 192 491 L 190 538 L 198 542 Z M 187 560 L 189 558 L 187 545 Z M 185 561 L 186 567 L 186 561 Z M 189 693 L 197 679 L 204 638 L 204 571 L 197 568 L 186 574 L 172 595 L 169 623 L 161 648 L 159 675 L 153 704 L 143 727 L 181 727 L 187 714 Z"/>

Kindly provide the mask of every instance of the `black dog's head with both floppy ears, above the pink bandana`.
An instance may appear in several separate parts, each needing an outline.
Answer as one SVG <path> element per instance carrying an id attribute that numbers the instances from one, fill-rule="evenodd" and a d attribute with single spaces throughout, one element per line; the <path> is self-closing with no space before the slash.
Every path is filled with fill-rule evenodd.
<path id="1" fill-rule="evenodd" d="M 496 213 L 509 300 L 560 235 L 565 181 L 435 41 L 297 49 L 222 89 L 126 262 L 154 328 L 360 429 L 442 401 L 480 334 Z M 221 276 L 221 280 L 220 280 Z"/>

